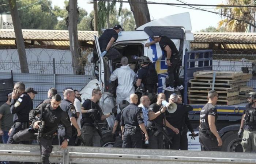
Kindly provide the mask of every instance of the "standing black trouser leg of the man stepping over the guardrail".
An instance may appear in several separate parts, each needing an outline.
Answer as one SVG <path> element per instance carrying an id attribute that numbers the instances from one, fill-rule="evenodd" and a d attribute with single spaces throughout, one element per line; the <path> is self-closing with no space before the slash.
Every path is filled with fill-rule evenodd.
<path id="1" fill-rule="evenodd" d="M 52 139 L 48 140 L 43 137 L 40 138 L 40 151 L 41 151 L 41 163 L 49 164 L 50 153 L 52 152 Z"/>

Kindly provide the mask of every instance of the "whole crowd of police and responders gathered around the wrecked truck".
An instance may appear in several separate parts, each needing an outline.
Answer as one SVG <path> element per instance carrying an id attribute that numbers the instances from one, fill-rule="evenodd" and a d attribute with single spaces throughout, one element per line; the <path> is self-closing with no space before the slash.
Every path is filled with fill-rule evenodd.
<path id="1" fill-rule="evenodd" d="M 121 35 L 120 32 L 121 26 L 116 25 L 102 34 L 99 38 L 101 51 L 103 51 L 100 56 L 106 56 L 106 59 L 111 59 L 113 56 L 120 57 L 118 51 L 111 48 L 118 35 Z M 179 91 L 183 89 L 177 76 L 180 63 L 179 52 L 169 38 L 161 35 L 154 35 L 153 41 L 145 46 L 148 47 L 157 42 L 167 56 L 170 83 L 164 90 Z M 158 75 L 153 63 L 147 56 L 136 56 L 135 59 L 138 59 L 140 65 L 137 75 L 130 69 L 127 57 L 121 58 L 122 66 L 110 75 L 109 80 L 117 79 L 118 86 L 117 105 L 108 114 L 103 114 L 98 105 L 102 96 L 99 89 L 93 89 L 91 98 L 82 103 L 78 90 L 65 88 L 61 100 L 57 90 L 50 88 L 47 98 L 33 109 L 33 99 L 37 92 L 33 88 L 25 89 L 23 82 L 15 83 L 14 90 L 8 94 L 7 105 L 5 105 L 10 105 L 8 117 L 10 118 L 12 114 L 13 125 L 9 131 L 4 129 L 5 133 L 0 130 L 0 135 L 4 135 L 4 142 L 31 144 L 31 140 L 37 136 L 42 152 L 41 161 L 49 163 L 52 145 L 61 145 L 62 148 L 68 145 L 100 147 L 102 132 L 99 122 L 115 114 L 112 130 L 115 139 L 114 147 L 187 150 L 187 129 L 196 136 L 188 118 L 188 112 L 193 108 L 182 104 L 181 95 L 170 94 L 167 102 L 164 93 L 157 94 Z M 174 82 L 176 89 L 174 89 Z M 134 86 L 138 87 L 137 91 L 142 92 L 140 99 L 135 94 Z M 137 105 L 139 100 L 140 104 Z M 215 125 L 218 118 L 215 107 L 218 93 L 211 90 L 208 93 L 208 100 L 200 112 L 199 141 L 202 151 L 219 151 L 222 140 Z M 255 152 L 255 92 L 248 95 L 248 102 L 238 135 L 242 136 L 241 144 L 244 152 Z M 170 112 L 170 106 L 175 110 Z M 8 124 L 11 123 L 8 122 Z M 8 132 L 8 140 L 6 132 Z"/>

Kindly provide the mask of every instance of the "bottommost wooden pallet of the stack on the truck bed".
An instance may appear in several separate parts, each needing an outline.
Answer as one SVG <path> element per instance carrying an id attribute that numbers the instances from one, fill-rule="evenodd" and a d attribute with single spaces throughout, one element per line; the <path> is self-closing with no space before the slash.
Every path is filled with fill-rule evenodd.
<path id="1" fill-rule="evenodd" d="M 188 99 L 188 103 L 191 105 L 206 104 L 207 102 L 208 102 L 207 99 L 196 99 L 196 98 Z M 240 104 L 240 99 L 231 100 L 231 101 L 227 101 L 227 100 L 218 100 L 217 101 L 217 105 L 235 105 L 235 104 Z"/>

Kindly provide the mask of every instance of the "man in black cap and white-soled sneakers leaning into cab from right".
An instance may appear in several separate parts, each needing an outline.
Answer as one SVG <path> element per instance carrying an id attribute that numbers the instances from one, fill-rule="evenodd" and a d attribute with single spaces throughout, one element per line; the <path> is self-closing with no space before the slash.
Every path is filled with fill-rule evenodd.
<path id="1" fill-rule="evenodd" d="M 164 90 L 166 91 L 179 91 L 184 89 L 184 87 L 180 84 L 178 69 L 180 68 L 180 54 L 171 39 L 167 36 L 161 36 L 154 34 L 152 36 L 153 41 L 150 43 L 146 43 L 145 47 L 149 47 L 152 44 L 158 43 L 162 49 L 162 51 L 166 55 L 166 63 L 168 66 L 168 75 L 169 75 L 169 86 Z M 176 84 L 176 88 L 174 89 L 174 81 Z"/>

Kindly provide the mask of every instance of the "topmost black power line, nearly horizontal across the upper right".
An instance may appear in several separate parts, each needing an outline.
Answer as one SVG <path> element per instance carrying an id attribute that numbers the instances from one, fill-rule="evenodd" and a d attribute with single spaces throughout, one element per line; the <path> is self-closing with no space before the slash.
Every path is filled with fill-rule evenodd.
<path id="1" fill-rule="evenodd" d="M 181 3 L 159 3 L 159 2 L 128 2 L 128 1 L 116 1 L 116 0 L 96 0 L 103 2 L 119 2 L 119 3 L 135 3 L 135 4 L 160 4 L 160 5 L 181 5 L 181 6 L 207 6 L 207 7 L 256 7 L 256 5 L 207 5 L 207 4 L 181 4 Z"/>

